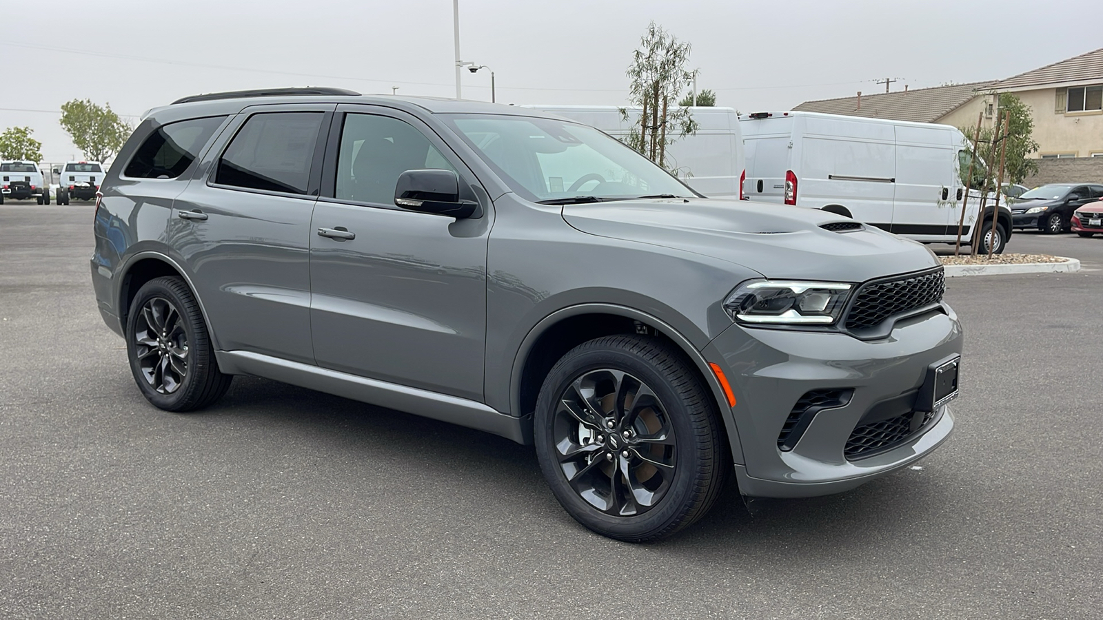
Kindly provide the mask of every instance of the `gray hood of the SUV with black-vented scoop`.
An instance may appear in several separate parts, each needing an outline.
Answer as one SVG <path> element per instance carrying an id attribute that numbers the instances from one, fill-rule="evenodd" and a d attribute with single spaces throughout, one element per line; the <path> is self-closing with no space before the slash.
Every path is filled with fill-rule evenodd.
<path id="1" fill-rule="evenodd" d="M 703 254 L 768 278 L 860 282 L 941 263 L 923 245 L 872 226 L 837 233 L 821 224 L 854 222 L 818 210 L 749 201 L 674 199 L 565 205 L 575 228 Z"/>

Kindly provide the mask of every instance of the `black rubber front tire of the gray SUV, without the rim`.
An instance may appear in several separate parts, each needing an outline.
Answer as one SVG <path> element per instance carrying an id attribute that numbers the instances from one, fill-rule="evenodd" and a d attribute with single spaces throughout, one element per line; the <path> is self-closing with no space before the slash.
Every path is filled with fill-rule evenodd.
<path id="1" fill-rule="evenodd" d="M 674 478 L 660 505 L 636 516 L 611 516 L 593 507 L 570 488 L 558 467 L 553 438 L 555 404 L 576 377 L 599 368 L 623 371 L 647 384 L 658 396 L 674 428 L 676 440 Z M 534 416 L 537 460 L 556 499 L 583 525 L 614 537 L 646 538 L 649 533 L 663 531 L 686 512 L 686 504 L 696 483 L 696 463 L 703 458 L 694 440 L 692 415 L 686 403 L 671 386 L 670 378 L 646 360 L 619 349 L 592 349 L 579 352 L 577 348 L 552 368 L 537 398 Z"/>

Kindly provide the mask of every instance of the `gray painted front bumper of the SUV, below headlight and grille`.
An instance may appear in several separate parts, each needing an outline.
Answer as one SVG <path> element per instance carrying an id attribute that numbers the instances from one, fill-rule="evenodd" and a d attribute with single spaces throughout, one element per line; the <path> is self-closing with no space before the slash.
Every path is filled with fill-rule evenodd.
<path id="1" fill-rule="evenodd" d="M 949 405 L 881 450 L 855 456 L 853 445 L 847 448 L 855 428 L 868 424 L 867 414 L 890 403 L 913 403 L 909 395 L 923 386 L 928 368 L 961 353 L 961 325 L 953 310 L 941 308 L 900 321 L 888 338 L 874 341 L 738 324 L 714 339 L 705 356 L 721 366 L 736 395 L 731 415 L 743 456 L 736 467 L 740 492 L 764 498 L 837 493 L 941 445 L 954 427 Z M 824 389 L 853 392 L 844 405 L 815 413 L 795 445 L 783 450 L 779 435 L 794 406 L 810 392 Z M 852 450 L 849 458 L 845 450 Z"/>

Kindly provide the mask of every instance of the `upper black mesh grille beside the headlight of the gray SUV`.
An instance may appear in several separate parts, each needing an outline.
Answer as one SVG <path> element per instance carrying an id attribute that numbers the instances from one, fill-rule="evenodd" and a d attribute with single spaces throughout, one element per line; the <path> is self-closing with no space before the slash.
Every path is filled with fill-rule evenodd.
<path id="1" fill-rule="evenodd" d="M 870 282 L 858 289 L 846 314 L 846 328 L 871 328 L 893 314 L 936 303 L 942 300 L 945 289 L 942 267 L 918 276 Z"/>

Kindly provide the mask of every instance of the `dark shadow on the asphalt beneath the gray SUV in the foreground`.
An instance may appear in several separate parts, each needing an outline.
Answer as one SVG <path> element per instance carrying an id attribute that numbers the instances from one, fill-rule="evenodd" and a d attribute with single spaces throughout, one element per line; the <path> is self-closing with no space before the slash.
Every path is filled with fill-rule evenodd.
<path id="1" fill-rule="evenodd" d="M 289 445 L 313 442 L 342 462 L 405 461 L 403 470 L 419 481 L 447 479 L 488 511 L 525 511 L 524 521 L 540 530 L 586 536 L 599 546 L 624 545 L 575 523 L 547 489 L 532 447 L 502 437 L 256 377 L 235 378 L 222 400 L 188 417 L 194 416 L 231 418 L 236 427 L 276 425 L 281 435 L 293 431 Z M 936 521 L 944 505 L 932 479 L 914 473 L 904 470 L 838 495 L 756 499 L 749 505 L 732 477 L 705 517 L 643 548 L 684 555 L 693 564 L 730 565 L 743 555 L 761 562 L 763 553 L 779 562 L 794 555 L 831 562 L 879 542 L 898 545 L 917 523 Z"/>

